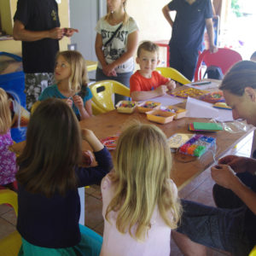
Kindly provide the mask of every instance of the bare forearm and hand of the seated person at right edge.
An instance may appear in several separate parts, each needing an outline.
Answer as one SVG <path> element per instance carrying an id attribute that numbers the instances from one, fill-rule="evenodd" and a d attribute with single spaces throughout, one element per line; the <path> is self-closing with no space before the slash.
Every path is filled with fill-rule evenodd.
<path id="1" fill-rule="evenodd" d="M 253 190 L 247 188 L 247 186 L 236 177 L 235 172 L 230 166 L 219 165 L 211 168 L 212 179 L 218 183 L 218 185 L 231 189 L 247 207 L 256 214 L 256 194 Z"/>

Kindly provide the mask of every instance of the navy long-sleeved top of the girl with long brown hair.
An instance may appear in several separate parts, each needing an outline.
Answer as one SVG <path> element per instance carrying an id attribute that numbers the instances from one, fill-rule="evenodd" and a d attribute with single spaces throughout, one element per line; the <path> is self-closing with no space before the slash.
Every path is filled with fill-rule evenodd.
<path id="1" fill-rule="evenodd" d="M 102 177 L 113 167 L 107 148 L 94 154 L 98 166 L 75 168 L 78 187 L 101 183 Z M 79 243 L 81 209 L 78 189 L 67 191 L 65 196 L 55 193 L 47 198 L 29 193 L 23 185 L 18 185 L 17 230 L 26 241 L 49 248 L 73 247 Z"/>

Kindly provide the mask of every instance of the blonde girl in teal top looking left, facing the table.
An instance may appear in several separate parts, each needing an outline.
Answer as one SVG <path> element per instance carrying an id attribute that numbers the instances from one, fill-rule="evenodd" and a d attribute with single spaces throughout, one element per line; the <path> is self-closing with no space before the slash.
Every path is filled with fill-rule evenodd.
<path id="1" fill-rule="evenodd" d="M 47 87 L 39 101 L 52 97 L 64 99 L 79 120 L 89 118 L 92 95 L 87 86 L 86 64 L 78 51 L 66 50 L 56 55 L 55 80 L 57 84 Z"/>

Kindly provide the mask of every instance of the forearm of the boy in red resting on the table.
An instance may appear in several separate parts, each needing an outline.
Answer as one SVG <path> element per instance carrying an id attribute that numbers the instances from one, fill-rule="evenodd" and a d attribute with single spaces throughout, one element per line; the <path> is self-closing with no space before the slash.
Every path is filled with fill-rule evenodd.
<path id="1" fill-rule="evenodd" d="M 155 90 L 148 90 L 148 91 L 135 90 L 131 92 L 131 99 L 132 101 L 136 101 L 136 102 L 144 101 L 154 97 L 166 95 L 167 90 L 168 89 L 166 85 L 160 85 Z"/>

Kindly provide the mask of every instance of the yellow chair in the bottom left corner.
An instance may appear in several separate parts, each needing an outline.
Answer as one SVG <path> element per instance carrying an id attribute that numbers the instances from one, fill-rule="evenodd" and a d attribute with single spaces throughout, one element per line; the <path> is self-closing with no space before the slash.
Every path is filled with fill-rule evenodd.
<path id="1" fill-rule="evenodd" d="M 9 204 L 15 209 L 15 213 L 18 213 L 18 200 L 17 194 L 9 189 L 0 190 L 0 204 Z M 12 256 L 18 255 L 21 246 L 21 236 L 16 230 L 9 236 L 0 240 L 0 255 Z"/>

